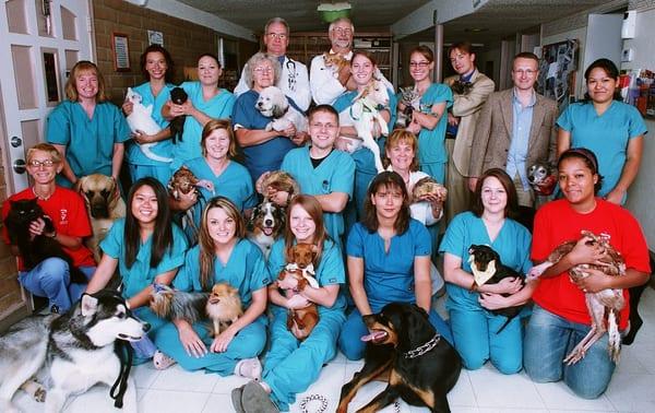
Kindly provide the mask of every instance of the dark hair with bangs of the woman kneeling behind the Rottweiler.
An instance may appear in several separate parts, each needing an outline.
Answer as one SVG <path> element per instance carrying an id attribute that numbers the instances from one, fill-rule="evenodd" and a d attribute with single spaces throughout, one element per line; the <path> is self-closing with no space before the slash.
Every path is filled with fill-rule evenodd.
<path id="1" fill-rule="evenodd" d="M 409 194 L 407 193 L 407 187 L 405 187 L 403 177 L 394 172 L 380 173 L 369 184 L 369 188 L 366 191 L 366 199 L 364 200 L 364 219 L 361 220 L 361 223 L 364 226 L 366 226 L 369 233 L 374 233 L 378 231 L 378 227 L 380 226 L 380 223 L 378 222 L 378 211 L 376 205 L 373 205 L 371 198 L 382 188 L 397 188 L 403 194 L 403 205 L 401 206 L 398 216 L 393 224 L 393 228 L 395 229 L 396 234 L 405 234 L 407 228 L 409 228 L 409 220 L 412 219 L 409 211 Z"/>

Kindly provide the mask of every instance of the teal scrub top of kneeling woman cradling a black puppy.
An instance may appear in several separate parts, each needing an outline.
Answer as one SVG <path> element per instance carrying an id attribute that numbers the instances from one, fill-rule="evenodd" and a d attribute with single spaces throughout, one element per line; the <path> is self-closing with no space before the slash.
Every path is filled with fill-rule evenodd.
<path id="1" fill-rule="evenodd" d="M 532 236 L 527 228 L 510 219 L 505 219 L 498 236 L 491 243 L 483 220 L 475 216 L 473 212 L 467 211 L 455 215 L 449 224 L 439 246 L 439 252 L 448 252 L 460 257 L 462 259 L 462 270 L 471 273 L 468 248 L 473 244 L 488 245 L 498 252 L 504 266 L 519 273 L 526 274 L 533 267 L 529 259 L 531 243 Z M 465 306 L 469 309 L 480 308 L 477 293 L 473 294 L 468 290 L 451 283 L 446 283 L 446 287 L 449 293 L 446 306 L 449 308 L 452 308 L 453 305 Z"/>

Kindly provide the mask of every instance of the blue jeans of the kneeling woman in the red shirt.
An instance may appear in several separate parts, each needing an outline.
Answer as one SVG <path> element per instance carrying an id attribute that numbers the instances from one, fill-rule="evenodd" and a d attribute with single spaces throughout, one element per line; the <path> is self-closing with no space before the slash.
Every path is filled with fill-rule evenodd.
<path id="1" fill-rule="evenodd" d="M 590 326 L 568 321 L 535 305 L 523 343 L 523 366 L 529 378 L 536 382 L 564 380 L 583 399 L 603 394 L 615 369 L 607 353 L 607 333 L 576 364 L 562 363 L 588 331 Z"/>

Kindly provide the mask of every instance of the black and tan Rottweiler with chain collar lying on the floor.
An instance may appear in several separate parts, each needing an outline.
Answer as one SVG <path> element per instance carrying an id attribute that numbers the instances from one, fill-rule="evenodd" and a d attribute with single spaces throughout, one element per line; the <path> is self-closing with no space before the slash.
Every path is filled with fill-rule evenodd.
<path id="1" fill-rule="evenodd" d="M 457 382 L 462 361 L 434 330 L 428 314 L 413 304 L 392 303 L 364 316 L 370 334 L 364 367 L 342 387 L 337 413 L 346 413 L 357 390 L 389 375 L 389 386 L 359 412 L 377 412 L 402 398 L 432 412 L 450 412 L 446 394 Z"/>

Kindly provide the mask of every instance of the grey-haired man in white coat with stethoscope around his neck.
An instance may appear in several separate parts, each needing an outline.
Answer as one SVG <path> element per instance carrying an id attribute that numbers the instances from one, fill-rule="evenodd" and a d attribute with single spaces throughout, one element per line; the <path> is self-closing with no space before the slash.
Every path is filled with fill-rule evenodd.
<path id="1" fill-rule="evenodd" d="M 265 51 L 276 57 L 282 67 L 282 74 L 276 86 L 294 99 L 300 109 L 307 110 L 311 103 L 307 67 L 286 56 L 286 49 L 289 46 L 289 25 L 286 20 L 282 17 L 269 20 L 264 26 L 263 42 Z M 235 87 L 235 96 L 237 97 L 249 90 L 243 76 L 247 69 L 243 68 L 241 71 L 241 79 Z"/>

